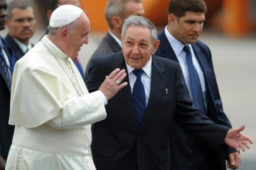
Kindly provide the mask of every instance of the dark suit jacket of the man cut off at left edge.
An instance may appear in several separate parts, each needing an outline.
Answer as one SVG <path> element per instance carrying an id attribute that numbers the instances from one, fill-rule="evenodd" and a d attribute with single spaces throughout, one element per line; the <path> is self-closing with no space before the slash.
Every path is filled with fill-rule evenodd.
<path id="1" fill-rule="evenodd" d="M 4 52 L 9 57 L 11 63 L 11 49 L 5 44 Z M 6 74 L 0 64 L 0 148 L 1 157 L 5 160 L 11 147 L 14 135 L 14 126 L 9 125 L 11 89 L 7 86 Z"/>

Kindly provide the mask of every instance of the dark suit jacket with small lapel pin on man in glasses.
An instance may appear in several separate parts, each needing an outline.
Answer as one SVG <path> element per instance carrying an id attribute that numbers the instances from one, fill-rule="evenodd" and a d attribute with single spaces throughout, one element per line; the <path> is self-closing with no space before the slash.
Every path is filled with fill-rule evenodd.
<path id="1" fill-rule="evenodd" d="M 87 89 L 97 91 L 116 68 L 127 69 L 122 52 L 93 59 Z M 124 81 L 129 83 L 129 77 Z M 97 170 L 169 170 L 174 119 L 213 149 L 220 149 L 228 128 L 213 124 L 192 106 L 179 64 L 152 55 L 151 91 L 142 125 L 137 123 L 129 85 L 108 101 L 107 118 L 95 123 L 92 154 Z"/>

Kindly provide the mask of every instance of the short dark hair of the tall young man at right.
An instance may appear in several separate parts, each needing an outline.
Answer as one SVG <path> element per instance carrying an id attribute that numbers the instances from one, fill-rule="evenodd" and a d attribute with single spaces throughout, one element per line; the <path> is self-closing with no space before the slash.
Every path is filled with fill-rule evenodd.
<path id="1" fill-rule="evenodd" d="M 186 12 L 206 13 L 207 6 L 203 0 L 171 0 L 168 6 L 168 15 L 181 18 Z"/>

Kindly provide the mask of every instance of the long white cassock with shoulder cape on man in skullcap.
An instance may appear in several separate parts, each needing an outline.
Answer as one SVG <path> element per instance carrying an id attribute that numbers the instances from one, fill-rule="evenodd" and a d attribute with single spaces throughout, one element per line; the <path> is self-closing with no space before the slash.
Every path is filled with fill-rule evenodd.
<path id="1" fill-rule="evenodd" d="M 107 116 L 73 61 L 47 35 L 16 62 L 9 124 L 16 125 L 6 170 L 95 169 L 90 124 Z"/>

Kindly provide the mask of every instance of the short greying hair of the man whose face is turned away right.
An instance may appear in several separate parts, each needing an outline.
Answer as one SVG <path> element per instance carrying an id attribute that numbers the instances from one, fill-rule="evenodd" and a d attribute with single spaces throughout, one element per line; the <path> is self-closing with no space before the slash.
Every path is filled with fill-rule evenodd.
<path id="1" fill-rule="evenodd" d="M 129 1 L 134 1 L 135 3 L 142 3 L 141 0 L 109 0 L 107 1 L 107 6 L 105 7 L 105 18 L 107 20 L 107 25 L 110 29 L 113 29 L 112 18 L 114 16 L 124 18 L 124 8 Z"/>

